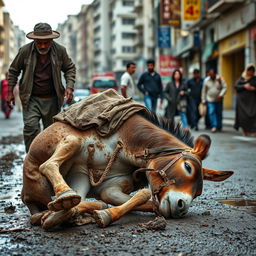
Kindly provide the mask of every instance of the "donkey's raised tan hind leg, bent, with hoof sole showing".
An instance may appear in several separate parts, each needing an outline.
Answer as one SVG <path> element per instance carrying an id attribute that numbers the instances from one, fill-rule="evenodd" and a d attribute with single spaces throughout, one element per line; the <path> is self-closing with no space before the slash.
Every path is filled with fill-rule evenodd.
<path id="1" fill-rule="evenodd" d="M 51 211 L 71 209 L 81 201 L 81 196 L 67 185 L 59 171 L 61 164 L 70 159 L 80 149 L 80 145 L 79 138 L 67 136 L 60 141 L 53 155 L 39 167 L 39 171 L 52 184 L 56 196 L 56 199 L 48 204 Z"/>

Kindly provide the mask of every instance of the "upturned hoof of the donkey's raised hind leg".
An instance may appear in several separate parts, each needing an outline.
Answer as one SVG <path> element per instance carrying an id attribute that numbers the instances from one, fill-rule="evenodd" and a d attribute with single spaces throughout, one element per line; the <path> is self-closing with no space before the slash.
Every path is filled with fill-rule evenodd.
<path id="1" fill-rule="evenodd" d="M 57 195 L 57 198 L 48 204 L 50 211 L 68 210 L 81 202 L 81 196 L 79 196 L 72 189 L 65 190 Z"/>

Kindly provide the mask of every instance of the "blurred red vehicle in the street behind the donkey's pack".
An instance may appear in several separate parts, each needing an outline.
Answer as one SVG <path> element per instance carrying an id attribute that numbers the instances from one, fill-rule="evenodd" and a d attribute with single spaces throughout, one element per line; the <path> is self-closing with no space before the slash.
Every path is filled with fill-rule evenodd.
<path id="1" fill-rule="evenodd" d="M 105 72 L 93 75 L 91 83 L 91 94 L 102 92 L 111 88 L 118 90 L 114 73 Z"/>

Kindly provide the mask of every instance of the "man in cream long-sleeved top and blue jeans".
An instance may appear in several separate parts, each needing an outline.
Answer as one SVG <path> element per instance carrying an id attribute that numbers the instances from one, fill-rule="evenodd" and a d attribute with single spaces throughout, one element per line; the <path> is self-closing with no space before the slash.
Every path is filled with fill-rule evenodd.
<path id="1" fill-rule="evenodd" d="M 216 132 L 222 130 L 223 97 L 227 91 L 227 85 L 214 69 L 210 69 L 208 74 L 202 88 L 202 103 L 207 104 L 211 132 Z"/>

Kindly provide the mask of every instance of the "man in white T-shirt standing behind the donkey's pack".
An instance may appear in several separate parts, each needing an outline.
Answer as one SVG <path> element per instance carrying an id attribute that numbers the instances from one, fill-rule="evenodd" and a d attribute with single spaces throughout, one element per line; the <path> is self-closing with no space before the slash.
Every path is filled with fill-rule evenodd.
<path id="1" fill-rule="evenodd" d="M 126 72 L 121 76 L 121 94 L 125 97 L 133 97 L 135 93 L 135 85 L 132 75 L 135 73 L 136 64 L 129 62 L 126 65 Z"/>

